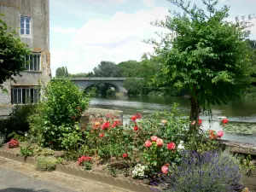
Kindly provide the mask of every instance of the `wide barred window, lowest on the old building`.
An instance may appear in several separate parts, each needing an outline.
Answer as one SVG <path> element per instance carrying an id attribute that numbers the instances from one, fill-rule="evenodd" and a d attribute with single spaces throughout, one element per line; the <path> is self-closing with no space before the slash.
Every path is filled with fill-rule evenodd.
<path id="1" fill-rule="evenodd" d="M 39 86 L 13 86 L 11 89 L 12 104 L 37 103 L 41 98 Z"/>

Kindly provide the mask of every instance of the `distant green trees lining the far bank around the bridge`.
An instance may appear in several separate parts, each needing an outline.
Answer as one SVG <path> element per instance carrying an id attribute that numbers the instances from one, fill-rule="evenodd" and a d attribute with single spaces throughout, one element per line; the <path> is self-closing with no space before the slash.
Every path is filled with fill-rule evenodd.
<path id="1" fill-rule="evenodd" d="M 247 39 L 247 45 L 250 53 L 251 59 L 251 69 L 250 69 L 250 81 L 251 86 L 246 90 L 248 96 L 256 96 L 256 41 Z M 162 84 L 158 84 L 155 81 L 155 76 L 157 74 L 157 79 L 164 78 L 162 73 L 163 62 L 160 56 L 152 56 L 149 54 L 144 54 L 141 61 L 122 61 L 118 64 L 113 61 L 101 61 L 101 63 L 93 69 L 90 73 L 68 73 L 67 67 L 59 67 L 56 69 L 56 78 L 86 78 L 86 77 L 124 77 L 127 78 L 124 82 L 125 89 L 128 90 L 129 95 L 148 95 L 149 93 L 154 93 L 156 95 L 166 95 L 166 96 L 183 96 L 187 95 L 188 91 L 186 89 L 181 89 L 179 91 L 174 91 L 170 85 L 165 81 L 161 81 Z M 136 79 L 143 78 L 143 79 Z M 109 85 L 102 87 L 102 85 L 97 85 L 96 89 L 108 90 Z M 100 91 L 102 92 L 102 91 Z"/>

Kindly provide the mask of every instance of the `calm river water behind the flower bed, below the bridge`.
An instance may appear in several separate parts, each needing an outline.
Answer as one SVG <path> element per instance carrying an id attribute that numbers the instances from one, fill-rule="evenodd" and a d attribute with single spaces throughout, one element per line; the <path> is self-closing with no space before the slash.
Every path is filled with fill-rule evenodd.
<path id="1" fill-rule="evenodd" d="M 173 103 L 178 103 L 178 109 L 189 115 L 189 99 L 185 97 L 127 97 L 91 98 L 90 107 L 108 108 L 123 111 L 124 122 L 128 122 L 132 114 L 142 113 L 147 118 L 155 112 L 170 111 Z M 222 127 L 220 118 L 227 117 L 230 122 Z M 241 100 L 227 105 L 213 106 L 212 117 L 201 114 L 203 129 L 223 130 L 223 139 L 256 144 L 256 100 Z"/>

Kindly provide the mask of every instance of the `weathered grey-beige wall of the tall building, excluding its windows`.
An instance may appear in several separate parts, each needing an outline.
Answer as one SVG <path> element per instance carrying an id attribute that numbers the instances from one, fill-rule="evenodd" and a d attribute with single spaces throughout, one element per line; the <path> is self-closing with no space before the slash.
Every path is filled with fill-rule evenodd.
<path id="1" fill-rule="evenodd" d="M 34 53 L 40 53 L 40 71 L 24 71 L 15 76 L 15 81 L 7 81 L 0 90 L 0 104 L 10 104 L 12 86 L 46 85 L 51 79 L 49 54 L 49 0 L 0 0 L 0 13 L 8 26 L 16 29 L 17 36 Z M 20 34 L 20 15 L 31 17 L 30 35 Z"/>

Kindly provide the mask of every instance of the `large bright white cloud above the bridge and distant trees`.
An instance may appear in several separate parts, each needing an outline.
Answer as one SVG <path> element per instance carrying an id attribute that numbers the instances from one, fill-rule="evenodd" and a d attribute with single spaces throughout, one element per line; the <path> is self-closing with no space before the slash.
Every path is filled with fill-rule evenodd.
<path id="1" fill-rule="evenodd" d="M 156 7 L 134 14 L 118 12 L 110 19 L 89 20 L 75 32 L 67 48 L 51 50 L 53 74 L 61 66 L 67 66 L 70 73 L 88 73 L 101 61 L 140 60 L 144 52 L 153 51 L 142 40 L 156 38 L 154 32 L 163 30 L 150 22 L 163 20 L 166 15 L 168 9 Z M 57 32 L 72 32 L 57 29 Z"/>

